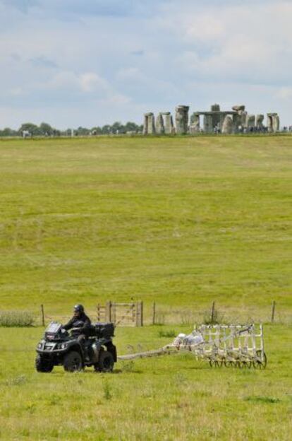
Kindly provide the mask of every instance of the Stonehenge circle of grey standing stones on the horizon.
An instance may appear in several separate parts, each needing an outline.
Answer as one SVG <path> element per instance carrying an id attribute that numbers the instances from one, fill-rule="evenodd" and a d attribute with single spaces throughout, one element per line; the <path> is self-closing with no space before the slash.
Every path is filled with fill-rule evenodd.
<path id="1" fill-rule="evenodd" d="M 171 112 L 144 114 L 143 134 L 145 135 L 183 135 L 183 134 L 238 134 L 250 132 L 276 133 L 280 130 L 280 119 L 277 113 L 267 113 L 267 125 L 264 125 L 263 114 L 249 114 L 245 105 L 234 105 L 231 110 L 221 110 L 219 104 L 213 104 L 210 110 L 193 112 L 190 107 L 178 105 L 174 119 Z M 201 125 L 202 118 L 202 125 Z"/>

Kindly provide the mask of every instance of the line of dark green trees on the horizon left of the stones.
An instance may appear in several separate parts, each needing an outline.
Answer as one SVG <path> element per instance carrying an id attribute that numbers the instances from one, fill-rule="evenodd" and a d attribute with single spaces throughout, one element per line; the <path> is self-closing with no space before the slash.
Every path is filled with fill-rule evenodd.
<path id="1" fill-rule="evenodd" d="M 47 122 L 42 122 L 37 126 L 32 122 L 25 122 L 21 124 L 18 130 L 10 129 L 6 127 L 0 130 L 0 136 L 23 136 L 23 133 L 30 134 L 30 136 L 88 136 L 88 135 L 110 135 L 110 134 L 126 134 L 126 133 L 139 133 L 142 131 L 142 125 L 139 126 L 135 122 L 127 122 L 122 124 L 121 122 L 114 122 L 114 124 L 106 124 L 103 127 L 78 127 L 77 129 L 59 130 L 51 127 Z"/>

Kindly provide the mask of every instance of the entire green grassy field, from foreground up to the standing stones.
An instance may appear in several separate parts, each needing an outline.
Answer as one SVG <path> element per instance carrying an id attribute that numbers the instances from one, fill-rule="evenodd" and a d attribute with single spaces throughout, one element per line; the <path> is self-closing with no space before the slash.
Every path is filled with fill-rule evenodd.
<path id="1" fill-rule="evenodd" d="M 2 310 L 144 300 L 268 321 L 264 372 L 190 355 L 37 374 L 43 329 L 0 328 L 0 439 L 290 440 L 291 136 L 0 141 Z M 146 317 L 146 318 L 147 318 Z M 176 324 L 118 328 L 157 348 Z"/>

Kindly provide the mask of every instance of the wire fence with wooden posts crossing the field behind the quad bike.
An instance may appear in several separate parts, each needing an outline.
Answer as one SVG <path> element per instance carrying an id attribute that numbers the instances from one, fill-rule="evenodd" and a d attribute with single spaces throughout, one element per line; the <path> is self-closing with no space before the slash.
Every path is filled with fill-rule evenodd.
<path id="1" fill-rule="evenodd" d="M 114 305 L 111 314 L 106 314 L 109 304 Z M 124 311 L 116 313 L 116 305 L 123 305 Z M 130 306 L 128 306 L 130 305 Z M 135 312 L 134 312 L 135 307 Z M 128 308 L 128 309 L 127 309 Z M 129 312 L 130 311 L 130 312 Z M 86 313 L 92 322 L 111 321 L 118 327 L 143 325 L 188 325 L 194 324 L 245 324 L 274 323 L 292 324 L 292 308 L 271 301 L 264 306 L 248 305 L 226 307 L 219 302 L 202 305 L 171 306 L 157 302 L 130 302 L 118 304 L 107 302 L 105 305 L 87 307 Z M 0 311 L 0 327 L 7 326 L 47 326 L 51 321 L 63 324 L 71 319 L 72 313 L 56 312 L 50 305 L 39 305 L 33 310 Z"/>

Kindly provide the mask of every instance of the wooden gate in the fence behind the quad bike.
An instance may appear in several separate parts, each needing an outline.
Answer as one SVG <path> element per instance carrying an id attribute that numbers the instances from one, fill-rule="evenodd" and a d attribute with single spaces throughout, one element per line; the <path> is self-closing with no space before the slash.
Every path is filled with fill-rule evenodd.
<path id="1" fill-rule="evenodd" d="M 142 327 L 143 302 L 115 303 L 97 305 L 97 321 L 111 322 L 116 326 Z"/>

